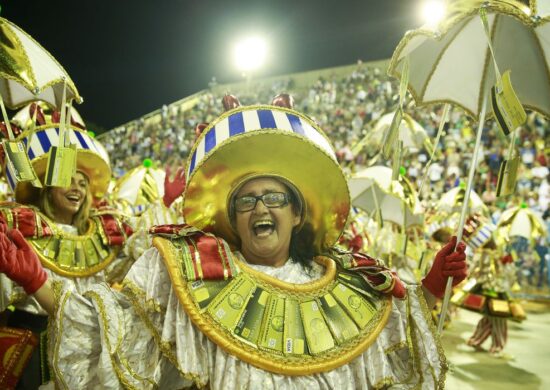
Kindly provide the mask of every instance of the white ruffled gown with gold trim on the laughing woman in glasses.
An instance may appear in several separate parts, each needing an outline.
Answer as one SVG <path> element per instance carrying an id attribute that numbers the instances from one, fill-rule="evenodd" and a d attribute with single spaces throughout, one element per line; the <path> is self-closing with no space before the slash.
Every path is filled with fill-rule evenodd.
<path id="1" fill-rule="evenodd" d="M 290 283 L 318 279 L 288 261 L 253 266 Z M 62 389 L 367 389 L 443 387 L 446 362 L 419 286 L 393 299 L 384 330 L 359 357 L 335 370 L 284 376 L 224 352 L 196 328 L 180 305 L 156 248 L 147 250 L 117 292 L 98 284 L 80 295 L 57 289 L 50 323 L 50 361 Z M 131 298 L 134 297 L 134 298 Z M 137 298 L 136 298 L 137 297 Z"/>

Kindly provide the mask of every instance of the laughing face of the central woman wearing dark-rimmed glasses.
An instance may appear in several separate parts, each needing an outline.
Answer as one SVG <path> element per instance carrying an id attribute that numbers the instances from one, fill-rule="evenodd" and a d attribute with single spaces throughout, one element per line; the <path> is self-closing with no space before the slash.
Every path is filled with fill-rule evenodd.
<path id="1" fill-rule="evenodd" d="M 252 179 L 240 188 L 234 201 L 272 193 L 288 196 L 289 190 L 274 178 Z M 235 226 L 241 239 L 241 253 L 249 263 L 275 267 L 285 264 L 292 230 L 300 223 L 300 215 L 294 209 L 288 202 L 280 207 L 267 207 L 261 200 L 257 200 L 256 206 L 249 211 L 236 208 Z"/>

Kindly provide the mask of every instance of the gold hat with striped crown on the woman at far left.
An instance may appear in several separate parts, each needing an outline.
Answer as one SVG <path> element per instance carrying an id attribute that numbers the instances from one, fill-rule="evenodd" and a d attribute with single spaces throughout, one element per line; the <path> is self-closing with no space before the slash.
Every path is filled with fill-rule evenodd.
<path id="1" fill-rule="evenodd" d="M 29 110 L 29 106 L 23 110 Z M 59 123 L 52 120 L 47 112 L 45 120 L 39 126 L 22 128 L 16 140 L 23 141 L 27 146 L 29 160 L 36 175 L 44 184 L 44 175 L 48 164 L 48 154 L 52 146 L 59 146 Z M 17 116 L 17 115 L 16 115 Z M 73 119 L 73 118 L 72 118 Z M 83 172 L 90 180 L 90 192 L 93 197 L 101 198 L 107 191 L 111 178 L 111 165 L 107 151 L 87 131 L 78 127 L 80 123 L 73 123 L 66 127 L 71 144 L 76 145 L 76 169 Z M 35 204 L 38 200 L 39 189 L 29 182 L 17 182 L 9 170 L 5 169 L 6 179 L 15 193 L 15 200 L 23 204 Z"/>

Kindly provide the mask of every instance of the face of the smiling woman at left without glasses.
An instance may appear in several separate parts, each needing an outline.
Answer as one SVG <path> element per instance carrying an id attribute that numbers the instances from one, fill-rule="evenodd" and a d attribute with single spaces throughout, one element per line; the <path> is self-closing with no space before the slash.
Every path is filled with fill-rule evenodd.
<path id="1" fill-rule="evenodd" d="M 72 224 L 75 214 L 86 199 L 88 192 L 88 178 L 81 172 L 77 172 L 71 179 L 68 188 L 52 187 L 50 201 L 53 206 L 55 221 Z"/>

